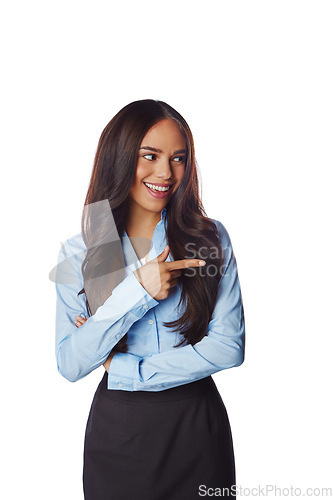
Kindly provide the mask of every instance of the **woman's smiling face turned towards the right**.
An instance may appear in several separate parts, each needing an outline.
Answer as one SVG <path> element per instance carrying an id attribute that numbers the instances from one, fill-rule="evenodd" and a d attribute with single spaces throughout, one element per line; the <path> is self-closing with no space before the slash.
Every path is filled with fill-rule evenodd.
<path id="1" fill-rule="evenodd" d="M 170 119 L 159 121 L 148 130 L 139 147 L 130 189 L 131 209 L 139 209 L 142 215 L 145 211 L 160 213 L 178 188 L 185 165 L 186 141 L 178 125 Z"/>

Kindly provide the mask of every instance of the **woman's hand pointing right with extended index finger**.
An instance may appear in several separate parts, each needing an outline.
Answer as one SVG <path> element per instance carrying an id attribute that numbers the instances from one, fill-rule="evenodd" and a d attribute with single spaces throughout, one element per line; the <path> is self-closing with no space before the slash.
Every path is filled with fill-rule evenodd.
<path id="1" fill-rule="evenodd" d="M 188 267 L 201 267 L 205 261 L 201 259 L 183 259 L 164 262 L 168 257 L 170 247 L 167 245 L 163 252 L 155 259 L 147 262 L 133 271 L 135 277 L 144 289 L 155 300 L 164 300 L 169 296 L 170 288 L 177 285 L 177 278 L 181 276 L 181 269 Z M 199 264 L 204 262 L 204 264 Z"/>

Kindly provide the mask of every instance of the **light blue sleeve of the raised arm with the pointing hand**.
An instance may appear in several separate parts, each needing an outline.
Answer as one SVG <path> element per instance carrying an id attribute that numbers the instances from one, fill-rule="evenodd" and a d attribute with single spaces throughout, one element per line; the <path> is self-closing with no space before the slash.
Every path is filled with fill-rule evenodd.
<path id="1" fill-rule="evenodd" d="M 93 316 L 76 327 L 76 316 L 87 317 L 83 277 L 78 259 L 69 243 L 62 245 L 56 278 L 55 354 L 59 373 L 75 382 L 102 365 L 112 348 L 147 311 L 159 304 L 144 289 L 133 272 L 113 290 Z M 58 277 L 60 273 L 58 273 Z"/>

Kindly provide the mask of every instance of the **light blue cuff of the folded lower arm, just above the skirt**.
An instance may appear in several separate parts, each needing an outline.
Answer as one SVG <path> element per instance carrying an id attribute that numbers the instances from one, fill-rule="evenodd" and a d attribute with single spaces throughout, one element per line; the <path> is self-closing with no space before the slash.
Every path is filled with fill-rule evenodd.
<path id="1" fill-rule="evenodd" d="M 108 374 L 108 389 L 134 390 L 134 380 L 140 379 L 139 364 L 143 358 L 128 352 L 116 351 Z"/>

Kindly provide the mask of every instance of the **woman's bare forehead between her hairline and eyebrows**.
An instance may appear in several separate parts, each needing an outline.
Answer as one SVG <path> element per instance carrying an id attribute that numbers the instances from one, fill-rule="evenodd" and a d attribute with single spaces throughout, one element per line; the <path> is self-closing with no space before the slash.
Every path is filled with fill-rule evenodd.
<path id="1" fill-rule="evenodd" d="M 149 141 L 149 143 L 147 142 Z M 165 119 L 155 123 L 144 136 L 141 146 L 156 146 L 163 149 L 164 145 L 186 146 L 186 140 L 179 126 L 173 120 Z"/>

